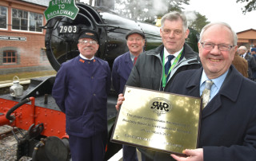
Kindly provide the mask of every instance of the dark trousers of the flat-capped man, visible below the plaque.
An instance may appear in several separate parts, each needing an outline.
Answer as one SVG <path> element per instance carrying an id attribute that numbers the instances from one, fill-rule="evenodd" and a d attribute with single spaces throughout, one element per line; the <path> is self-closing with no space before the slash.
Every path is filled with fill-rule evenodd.
<path id="1" fill-rule="evenodd" d="M 123 161 L 138 161 L 136 147 L 122 145 L 122 160 Z"/>

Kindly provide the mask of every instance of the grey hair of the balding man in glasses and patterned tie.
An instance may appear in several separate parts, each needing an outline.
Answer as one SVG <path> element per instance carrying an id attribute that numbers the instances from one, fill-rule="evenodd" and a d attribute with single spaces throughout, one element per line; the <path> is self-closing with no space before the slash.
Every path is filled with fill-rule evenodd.
<path id="1" fill-rule="evenodd" d="M 205 33 L 205 31 L 207 29 L 210 28 L 210 26 L 214 26 L 214 25 L 220 25 L 220 26 L 226 26 L 228 29 L 230 29 L 231 33 L 233 34 L 233 45 L 238 45 L 238 35 L 237 33 L 234 32 L 234 30 L 230 27 L 229 24 L 227 24 L 226 22 L 212 22 L 212 23 L 209 23 L 207 24 L 206 26 L 204 26 L 202 28 L 202 31 L 200 33 L 200 39 L 199 39 L 199 42 L 202 41 L 202 36 L 203 36 L 203 33 Z"/>

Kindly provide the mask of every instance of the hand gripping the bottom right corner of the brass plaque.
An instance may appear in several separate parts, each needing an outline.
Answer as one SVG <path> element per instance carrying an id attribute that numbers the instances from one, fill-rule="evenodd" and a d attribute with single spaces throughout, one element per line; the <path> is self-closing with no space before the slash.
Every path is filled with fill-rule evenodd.
<path id="1" fill-rule="evenodd" d="M 187 157 L 178 156 L 171 154 L 171 156 L 178 161 L 203 161 L 203 149 L 186 149 L 182 151 L 183 154 L 188 155 Z"/>

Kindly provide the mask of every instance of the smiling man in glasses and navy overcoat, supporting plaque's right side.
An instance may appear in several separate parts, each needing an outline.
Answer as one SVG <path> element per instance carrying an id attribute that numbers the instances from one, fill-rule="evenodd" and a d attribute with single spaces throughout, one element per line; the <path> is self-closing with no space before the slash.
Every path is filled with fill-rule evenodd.
<path id="1" fill-rule="evenodd" d="M 212 81 L 210 99 L 202 107 L 199 148 L 186 149 L 177 160 L 256 160 L 256 83 L 231 65 L 238 37 L 222 22 L 206 25 L 198 42 L 201 69 L 179 73 L 168 92 L 202 96 Z"/>

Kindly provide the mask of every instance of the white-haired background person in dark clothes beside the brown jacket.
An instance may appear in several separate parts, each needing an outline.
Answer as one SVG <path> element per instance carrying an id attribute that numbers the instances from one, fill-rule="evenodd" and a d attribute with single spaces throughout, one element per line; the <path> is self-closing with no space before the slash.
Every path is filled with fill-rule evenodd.
<path id="1" fill-rule="evenodd" d="M 251 56 L 249 53 L 246 53 L 246 51 L 246 46 L 240 46 L 238 49 L 239 55 L 246 59 L 248 63 L 248 78 L 252 80 L 252 73 L 256 71 L 256 61 L 254 60 L 254 57 Z"/>

